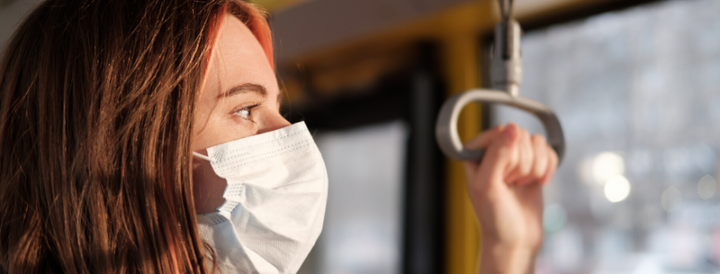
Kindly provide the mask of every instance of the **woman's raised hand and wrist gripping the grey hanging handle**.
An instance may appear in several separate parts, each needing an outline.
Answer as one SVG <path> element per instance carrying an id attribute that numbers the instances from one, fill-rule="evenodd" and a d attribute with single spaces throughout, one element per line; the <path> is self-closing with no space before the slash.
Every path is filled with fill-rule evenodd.
<path id="1" fill-rule="evenodd" d="M 465 163 L 481 226 L 480 273 L 532 273 L 542 245 L 542 186 L 555 173 L 557 154 L 543 136 L 512 123 L 483 132 L 466 147 L 487 148 L 481 163 Z"/>

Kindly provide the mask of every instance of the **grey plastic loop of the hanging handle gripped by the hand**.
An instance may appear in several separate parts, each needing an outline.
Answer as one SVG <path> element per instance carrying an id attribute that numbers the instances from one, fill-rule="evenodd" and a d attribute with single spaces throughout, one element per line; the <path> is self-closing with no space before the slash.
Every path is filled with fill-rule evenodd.
<path id="1" fill-rule="evenodd" d="M 480 162 L 485 155 L 485 149 L 471 150 L 463 146 L 457 131 L 457 120 L 460 111 L 472 102 L 501 103 L 526 112 L 530 112 L 540 119 L 547 132 L 548 144 L 558 155 L 558 165 L 565 156 L 565 137 L 563 136 L 560 121 L 548 107 L 540 102 L 513 96 L 504 91 L 487 89 L 473 89 L 448 99 L 440 109 L 435 135 L 440 149 L 450 158 L 465 161 Z"/>

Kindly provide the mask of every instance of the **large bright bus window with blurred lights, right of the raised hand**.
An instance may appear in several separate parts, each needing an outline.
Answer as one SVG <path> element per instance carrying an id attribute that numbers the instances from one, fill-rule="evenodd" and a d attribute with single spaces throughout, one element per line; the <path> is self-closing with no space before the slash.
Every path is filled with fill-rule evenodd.
<path id="1" fill-rule="evenodd" d="M 661 1 L 524 35 L 521 93 L 556 111 L 567 141 L 537 273 L 718 270 L 718 11 Z"/>

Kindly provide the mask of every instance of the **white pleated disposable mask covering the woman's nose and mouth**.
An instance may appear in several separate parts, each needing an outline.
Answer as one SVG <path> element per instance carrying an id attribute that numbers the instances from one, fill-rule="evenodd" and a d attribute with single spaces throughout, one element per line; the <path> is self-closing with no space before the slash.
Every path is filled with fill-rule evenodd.
<path id="1" fill-rule="evenodd" d="M 218 212 L 198 216 L 223 273 L 296 273 L 322 230 L 325 162 L 304 122 L 207 149 L 227 180 Z"/>

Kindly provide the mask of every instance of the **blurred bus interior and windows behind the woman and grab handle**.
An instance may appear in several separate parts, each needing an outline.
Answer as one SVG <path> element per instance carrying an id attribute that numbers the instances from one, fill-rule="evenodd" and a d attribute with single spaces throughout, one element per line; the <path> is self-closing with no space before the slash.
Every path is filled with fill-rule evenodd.
<path id="1" fill-rule="evenodd" d="M 0 48 L 38 0 L 0 0 Z M 443 100 L 488 82 L 495 0 L 256 0 L 293 122 L 330 175 L 301 273 L 474 273 L 462 166 L 435 144 Z M 567 154 L 545 189 L 537 273 L 720 273 L 720 1 L 516 0 L 520 93 Z M 471 106 L 468 140 L 533 117 Z"/>

